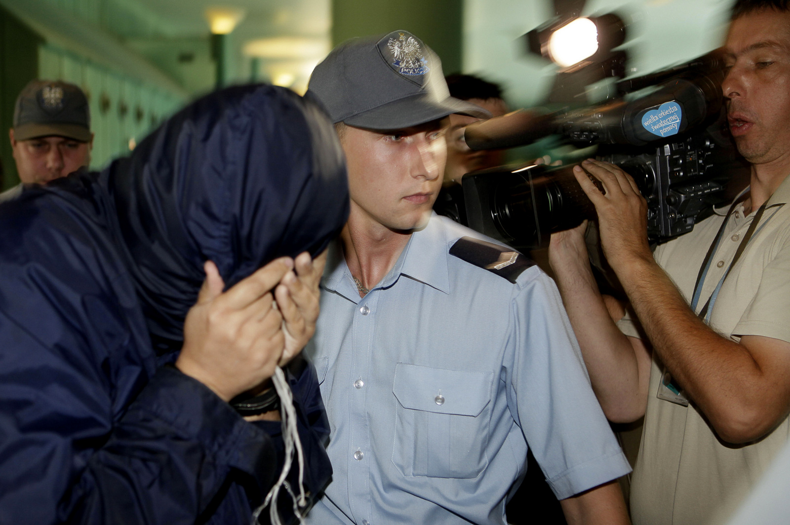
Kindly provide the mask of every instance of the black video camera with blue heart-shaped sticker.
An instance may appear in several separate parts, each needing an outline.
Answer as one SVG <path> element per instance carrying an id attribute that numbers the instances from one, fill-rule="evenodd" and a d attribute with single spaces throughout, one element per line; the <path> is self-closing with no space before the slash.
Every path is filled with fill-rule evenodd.
<path id="1" fill-rule="evenodd" d="M 621 81 L 621 96 L 603 105 L 492 118 L 468 126 L 465 140 L 472 149 L 509 148 L 556 133 L 572 144 L 600 144 L 598 159 L 634 177 L 648 204 L 648 236 L 663 242 L 691 231 L 727 198 L 735 151 L 722 133 L 723 72 L 720 57 L 708 54 Z M 652 91 L 623 96 L 645 88 Z M 551 232 L 596 217 L 572 166 L 496 167 L 462 181 L 468 226 L 517 249 L 546 246 Z"/>

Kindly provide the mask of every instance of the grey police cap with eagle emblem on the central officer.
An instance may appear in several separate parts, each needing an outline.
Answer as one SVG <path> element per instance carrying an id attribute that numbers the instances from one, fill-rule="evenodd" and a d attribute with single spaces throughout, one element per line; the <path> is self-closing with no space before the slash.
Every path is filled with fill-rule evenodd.
<path id="1" fill-rule="evenodd" d="M 490 118 L 482 107 L 453 99 L 442 62 L 408 31 L 354 38 L 315 66 L 307 86 L 332 122 L 401 129 L 460 113 Z"/>

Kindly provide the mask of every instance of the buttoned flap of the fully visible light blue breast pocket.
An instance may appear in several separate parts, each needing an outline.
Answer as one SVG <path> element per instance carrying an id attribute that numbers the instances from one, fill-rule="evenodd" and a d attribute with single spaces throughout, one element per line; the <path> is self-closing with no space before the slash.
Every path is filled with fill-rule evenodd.
<path id="1" fill-rule="evenodd" d="M 461 372 L 398 363 L 393 393 L 404 408 L 476 416 L 491 400 L 493 379 L 493 372 Z"/>

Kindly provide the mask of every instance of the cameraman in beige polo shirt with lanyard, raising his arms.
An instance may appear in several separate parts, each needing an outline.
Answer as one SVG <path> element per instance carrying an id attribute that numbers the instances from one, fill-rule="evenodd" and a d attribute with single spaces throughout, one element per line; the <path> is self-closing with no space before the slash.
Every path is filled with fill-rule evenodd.
<path id="1" fill-rule="evenodd" d="M 623 309 L 592 277 L 584 225 L 551 239 L 551 266 L 604 411 L 620 422 L 645 415 L 630 499 L 636 524 L 721 523 L 790 433 L 787 0 L 736 2 L 724 51 L 729 125 L 751 163 L 751 186 L 729 211 L 653 254 L 630 175 L 594 160 L 574 168 L 635 313 L 619 322 L 623 332 L 612 321 Z"/>

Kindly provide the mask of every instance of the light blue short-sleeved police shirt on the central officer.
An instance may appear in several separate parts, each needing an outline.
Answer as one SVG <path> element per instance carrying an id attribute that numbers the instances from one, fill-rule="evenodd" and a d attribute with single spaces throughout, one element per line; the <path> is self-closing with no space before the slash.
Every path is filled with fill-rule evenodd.
<path id="1" fill-rule="evenodd" d="M 528 443 L 560 499 L 630 471 L 554 282 L 453 257 L 464 236 L 434 214 L 364 298 L 333 246 L 305 352 L 334 474 L 307 523 L 506 523 Z"/>

